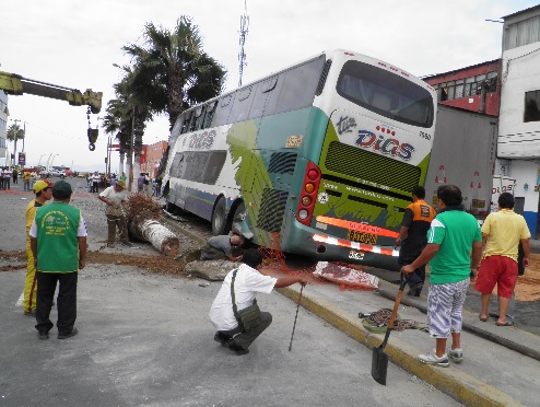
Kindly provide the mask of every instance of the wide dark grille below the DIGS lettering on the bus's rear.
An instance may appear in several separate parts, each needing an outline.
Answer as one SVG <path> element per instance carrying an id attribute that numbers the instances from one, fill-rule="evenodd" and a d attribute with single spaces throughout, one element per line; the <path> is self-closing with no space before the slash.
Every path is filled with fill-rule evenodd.
<path id="1" fill-rule="evenodd" d="M 325 166 L 331 172 L 374 182 L 407 194 L 419 185 L 422 173 L 418 166 L 338 141 L 330 143 Z"/>

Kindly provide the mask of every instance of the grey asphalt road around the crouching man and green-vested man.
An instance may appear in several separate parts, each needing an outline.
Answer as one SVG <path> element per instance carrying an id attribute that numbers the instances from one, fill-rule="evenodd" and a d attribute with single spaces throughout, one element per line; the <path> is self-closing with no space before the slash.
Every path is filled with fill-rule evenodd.
<path id="1" fill-rule="evenodd" d="M 83 181 L 71 182 L 82 185 L 72 202 L 83 209 L 90 249 L 103 249 L 103 206 Z M 2 251 L 24 249 L 28 199 L 22 185 L 0 193 Z M 157 255 L 148 245 L 115 249 Z M 213 341 L 208 312 L 220 282 L 91 264 L 79 278 L 80 334 L 58 340 L 54 328 L 44 341 L 16 305 L 24 264 L 0 252 L 0 406 L 458 405 L 391 364 L 389 385 L 377 384 L 372 351 L 303 309 L 290 352 L 296 306 L 279 293 L 259 299 L 273 323 L 238 357 Z"/>

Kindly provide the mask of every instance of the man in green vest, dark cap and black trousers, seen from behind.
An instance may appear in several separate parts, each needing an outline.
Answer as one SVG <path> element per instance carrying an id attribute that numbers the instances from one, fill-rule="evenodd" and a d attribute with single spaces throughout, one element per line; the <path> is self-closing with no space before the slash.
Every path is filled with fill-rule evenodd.
<path id="1" fill-rule="evenodd" d="M 37 183 L 36 183 L 37 184 Z M 78 334 L 78 270 L 86 264 L 86 224 L 81 210 L 69 205 L 71 185 L 59 181 L 52 186 L 54 202 L 38 208 L 30 229 L 34 266 L 37 270 L 36 329 L 39 339 L 48 339 L 54 324 L 50 309 L 59 282 L 57 309 L 58 339 Z"/>

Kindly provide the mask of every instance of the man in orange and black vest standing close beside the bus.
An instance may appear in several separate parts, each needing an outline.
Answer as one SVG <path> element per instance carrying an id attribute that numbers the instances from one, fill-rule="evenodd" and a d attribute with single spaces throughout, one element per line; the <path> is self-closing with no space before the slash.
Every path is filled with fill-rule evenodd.
<path id="1" fill-rule="evenodd" d="M 404 211 L 403 222 L 401 223 L 399 235 L 396 239 L 396 246 L 401 245 L 398 258 L 398 263 L 401 266 L 410 265 L 414 261 L 427 244 L 426 233 L 436 213 L 435 209 L 427 205 L 424 198 L 424 187 L 414 187 L 412 190 L 412 203 Z M 410 290 L 407 294 L 420 296 L 424 281 L 425 265 L 420 266 L 414 272 L 409 275 L 407 283 Z"/>

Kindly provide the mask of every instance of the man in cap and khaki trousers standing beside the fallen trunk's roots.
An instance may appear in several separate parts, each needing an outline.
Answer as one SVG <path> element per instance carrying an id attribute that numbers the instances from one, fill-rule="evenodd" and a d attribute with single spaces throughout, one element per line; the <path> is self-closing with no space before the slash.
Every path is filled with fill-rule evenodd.
<path id="1" fill-rule="evenodd" d="M 107 216 L 108 239 L 107 247 L 115 247 L 116 241 L 116 226 L 118 226 L 118 234 L 120 242 L 130 247 L 131 243 L 128 240 L 128 228 L 126 225 L 126 217 L 124 216 L 124 209 L 127 210 L 128 195 L 126 194 L 126 183 L 121 179 L 116 182 L 115 186 L 105 188 L 103 193 L 97 197 L 101 201 L 107 203 L 105 214 Z"/>

